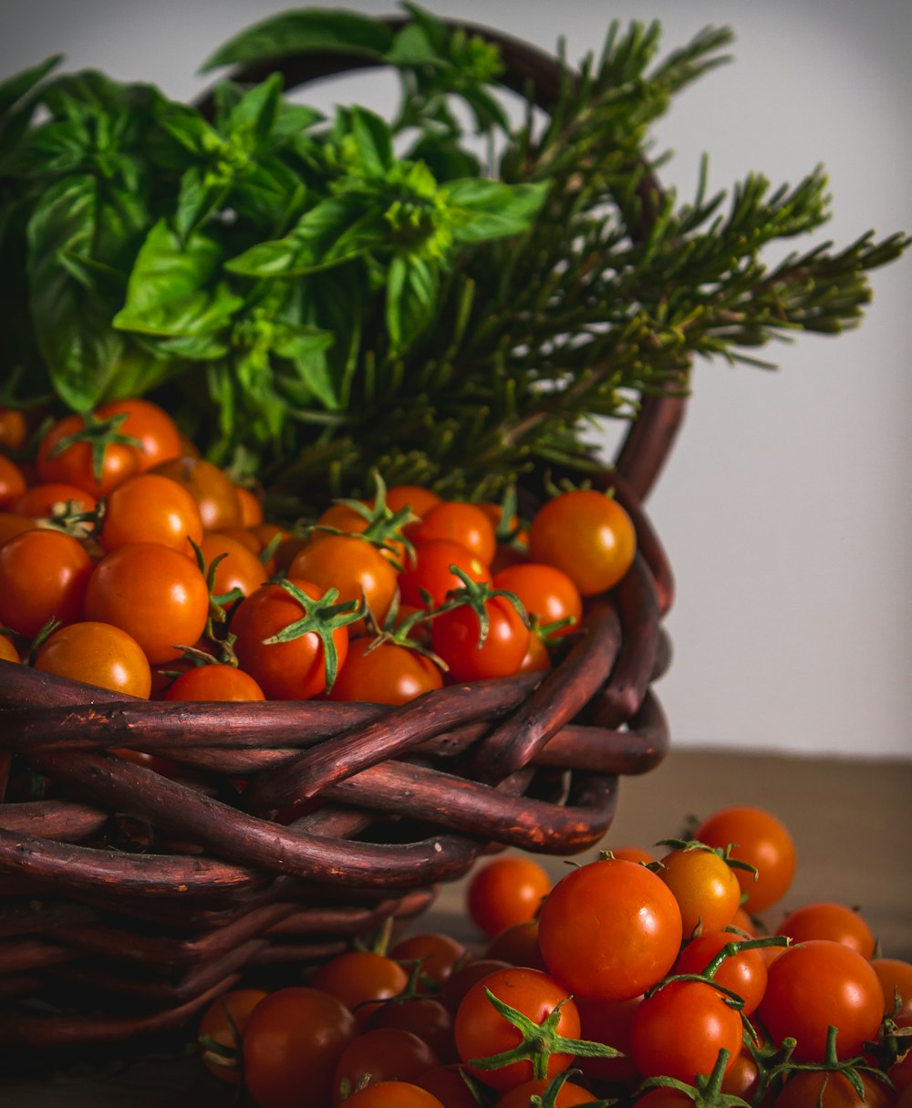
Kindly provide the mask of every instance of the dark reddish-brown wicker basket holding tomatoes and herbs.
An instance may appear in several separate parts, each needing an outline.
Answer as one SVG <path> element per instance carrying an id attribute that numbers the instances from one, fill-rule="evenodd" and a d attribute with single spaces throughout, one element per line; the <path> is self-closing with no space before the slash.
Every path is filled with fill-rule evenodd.
<path id="1" fill-rule="evenodd" d="M 547 107 L 555 60 L 480 33 L 500 45 L 505 83 L 532 81 Z M 300 84 L 363 64 L 293 58 L 235 76 L 279 68 Z M 300 967 L 418 914 L 481 852 L 596 843 L 618 776 L 652 769 L 667 747 L 650 684 L 670 657 L 672 577 L 641 501 L 683 411 L 679 398 L 647 399 L 603 474 L 638 554 L 544 678 L 451 686 L 393 709 L 162 704 L 0 663 L 0 1043 L 178 1029 L 242 974 Z M 112 748 L 174 759 L 181 776 Z M 53 799 L 17 802 L 7 786 L 22 773 L 50 781 Z M 301 814 L 277 822 L 299 798 Z"/>

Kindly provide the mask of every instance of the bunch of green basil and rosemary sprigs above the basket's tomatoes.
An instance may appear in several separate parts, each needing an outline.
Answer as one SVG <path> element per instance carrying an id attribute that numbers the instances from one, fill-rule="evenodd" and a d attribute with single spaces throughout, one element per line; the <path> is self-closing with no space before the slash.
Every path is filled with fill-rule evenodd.
<path id="1" fill-rule="evenodd" d="M 493 495 L 591 464 L 587 420 L 686 391 L 696 356 L 762 365 L 773 337 L 855 325 L 867 271 L 909 244 L 869 233 L 769 268 L 767 246 L 828 218 L 822 171 L 730 197 L 704 172 L 689 204 L 657 187 L 649 127 L 726 60 L 727 30 L 660 59 L 656 24 L 612 24 L 597 59 L 561 60 L 546 121 L 530 88 L 514 124 L 495 41 L 403 7 L 256 24 L 205 68 L 262 79 L 202 106 L 52 78 L 59 59 L 0 85 L 3 401 L 148 394 L 305 503 L 378 468 Z M 287 98 L 277 58 L 334 53 L 399 72 L 393 119 Z"/>

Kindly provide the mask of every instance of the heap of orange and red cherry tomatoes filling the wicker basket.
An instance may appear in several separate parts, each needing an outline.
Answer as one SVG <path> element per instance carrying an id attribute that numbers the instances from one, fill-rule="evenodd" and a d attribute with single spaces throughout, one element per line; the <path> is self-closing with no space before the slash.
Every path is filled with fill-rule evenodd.
<path id="1" fill-rule="evenodd" d="M 142 399 L 29 437 L 0 409 L 0 657 L 172 700 L 402 704 L 543 670 L 635 554 L 611 496 L 414 485 L 283 527 Z"/>

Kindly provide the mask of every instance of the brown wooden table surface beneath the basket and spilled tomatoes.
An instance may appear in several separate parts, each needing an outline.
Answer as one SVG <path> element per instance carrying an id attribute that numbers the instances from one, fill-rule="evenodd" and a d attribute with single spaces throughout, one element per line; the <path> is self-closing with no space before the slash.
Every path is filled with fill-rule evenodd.
<path id="1" fill-rule="evenodd" d="M 910 751 L 912 756 L 912 750 Z M 773 811 L 791 830 L 798 873 L 781 910 L 816 900 L 861 907 L 883 953 L 912 961 L 912 757 L 849 761 L 673 750 L 643 778 L 622 782 L 617 815 L 601 849 L 650 845 L 689 814 L 732 803 Z M 578 860 L 596 851 L 578 855 Z M 562 859 L 546 859 L 554 876 Z M 463 882 L 445 886 L 412 930 L 478 942 L 462 911 Z M 779 910 L 770 910 L 775 924 Z M 125 1059 L 47 1068 L 3 1081 L 0 1108 L 230 1108 L 233 1096 L 195 1058 Z"/>

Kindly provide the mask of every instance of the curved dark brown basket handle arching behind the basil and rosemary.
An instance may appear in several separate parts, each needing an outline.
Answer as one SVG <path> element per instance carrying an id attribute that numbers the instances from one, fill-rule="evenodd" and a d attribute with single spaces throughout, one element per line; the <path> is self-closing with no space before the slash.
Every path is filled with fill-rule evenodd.
<path id="1" fill-rule="evenodd" d="M 389 18 L 385 22 L 396 32 L 408 20 L 399 17 Z M 536 106 L 545 112 L 553 109 L 561 93 L 562 81 L 566 79 L 566 71 L 557 58 L 489 27 L 453 19 L 444 22 L 451 29 L 477 35 L 500 50 L 504 71 L 499 80 L 503 88 L 531 95 Z M 271 73 L 281 73 L 286 86 L 294 89 L 322 78 L 352 70 L 376 69 L 383 64 L 386 63 L 359 54 L 297 53 L 240 65 L 228 76 L 239 84 L 257 84 Z M 214 111 L 213 92 L 204 93 L 196 106 L 211 117 Z M 643 219 L 642 225 L 636 228 L 636 235 L 641 237 L 652 224 L 654 197 L 660 195 L 660 187 L 652 173 L 643 177 L 638 192 L 643 202 Z M 665 464 L 684 420 L 685 407 L 686 398 L 680 394 L 647 394 L 643 398 L 639 414 L 627 429 L 615 455 L 615 468 L 641 500 L 646 497 Z"/>

